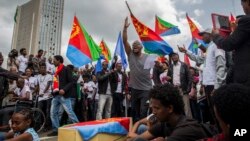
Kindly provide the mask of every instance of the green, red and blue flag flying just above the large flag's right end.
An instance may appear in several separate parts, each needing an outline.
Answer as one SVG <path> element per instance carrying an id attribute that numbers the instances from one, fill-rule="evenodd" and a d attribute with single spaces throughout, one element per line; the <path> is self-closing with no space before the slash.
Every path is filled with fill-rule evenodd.
<path id="1" fill-rule="evenodd" d="M 168 36 L 179 34 L 181 31 L 177 26 L 162 20 L 158 16 L 155 16 L 155 33 L 161 36 Z"/>

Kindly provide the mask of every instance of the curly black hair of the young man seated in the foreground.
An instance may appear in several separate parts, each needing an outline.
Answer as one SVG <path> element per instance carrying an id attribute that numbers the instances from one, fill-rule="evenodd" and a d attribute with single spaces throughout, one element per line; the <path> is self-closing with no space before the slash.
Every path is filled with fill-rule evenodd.
<path id="1" fill-rule="evenodd" d="M 176 114 L 184 113 L 184 102 L 180 91 L 172 84 L 154 86 L 149 92 L 149 98 L 159 100 L 164 107 L 172 105 Z"/>

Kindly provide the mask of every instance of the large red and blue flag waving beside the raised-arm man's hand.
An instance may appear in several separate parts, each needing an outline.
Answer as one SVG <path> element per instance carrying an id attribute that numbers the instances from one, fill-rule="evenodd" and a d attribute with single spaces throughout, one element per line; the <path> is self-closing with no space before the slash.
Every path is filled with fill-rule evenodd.
<path id="1" fill-rule="evenodd" d="M 153 30 L 138 21 L 133 14 L 131 14 L 131 19 L 144 46 L 145 52 L 158 55 L 168 55 L 173 52 L 173 49 L 167 42 Z"/>

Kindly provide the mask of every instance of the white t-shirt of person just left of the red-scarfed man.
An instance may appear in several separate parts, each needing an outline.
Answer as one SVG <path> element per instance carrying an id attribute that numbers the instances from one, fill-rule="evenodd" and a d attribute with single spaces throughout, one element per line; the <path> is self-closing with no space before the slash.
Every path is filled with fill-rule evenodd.
<path id="1" fill-rule="evenodd" d="M 52 75 L 50 74 L 46 74 L 46 75 L 41 75 L 39 74 L 37 76 L 37 82 L 39 85 L 39 95 L 42 95 L 42 97 L 38 98 L 38 101 L 42 101 L 42 100 L 46 100 L 50 98 L 50 93 L 51 93 L 51 86 L 48 88 L 48 90 L 44 93 L 44 90 L 47 87 L 48 82 L 51 81 L 52 82 Z"/>

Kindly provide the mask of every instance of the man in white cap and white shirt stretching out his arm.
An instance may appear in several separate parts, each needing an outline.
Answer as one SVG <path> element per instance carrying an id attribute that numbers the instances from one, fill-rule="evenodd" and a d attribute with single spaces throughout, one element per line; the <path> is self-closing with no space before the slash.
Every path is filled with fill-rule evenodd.
<path id="1" fill-rule="evenodd" d="M 215 89 L 225 84 L 226 80 L 226 60 L 225 52 L 218 49 L 212 41 L 212 29 L 205 29 L 199 34 L 202 40 L 208 44 L 206 56 L 198 56 L 190 53 L 185 47 L 178 47 L 180 52 L 186 53 L 188 57 L 198 64 L 204 64 L 202 72 L 202 84 L 204 86 L 206 100 L 203 101 L 204 111 L 202 113 L 203 122 L 215 123 L 213 110 L 211 109 L 211 94 Z M 197 41 L 196 41 L 197 42 Z"/>

